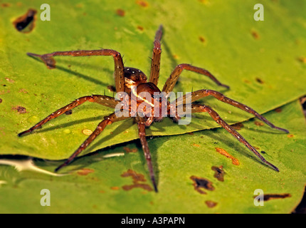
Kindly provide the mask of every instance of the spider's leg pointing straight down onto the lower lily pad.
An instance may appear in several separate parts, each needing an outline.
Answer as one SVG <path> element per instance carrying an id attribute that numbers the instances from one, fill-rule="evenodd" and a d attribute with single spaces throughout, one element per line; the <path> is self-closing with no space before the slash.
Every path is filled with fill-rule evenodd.
<path id="1" fill-rule="evenodd" d="M 155 181 L 155 177 L 154 177 L 154 171 L 153 171 L 153 166 L 152 166 L 152 160 L 151 160 L 151 154 L 149 151 L 149 145 L 146 139 L 146 132 L 145 132 L 145 122 L 143 118 L 140 118 L 139 116 L 137 116 L 137 125 L 138 125 L 138 135 L 139 135 L 139 139 L 140 142 L 142 143 L 142 150 L 144 150 L 144 157 L 147 160 L 147 165 L 149 168 L 149 174 L 154 186 L 154 190 L 155 192 L 158 192 L 157 190 L 157 184 Z"/>

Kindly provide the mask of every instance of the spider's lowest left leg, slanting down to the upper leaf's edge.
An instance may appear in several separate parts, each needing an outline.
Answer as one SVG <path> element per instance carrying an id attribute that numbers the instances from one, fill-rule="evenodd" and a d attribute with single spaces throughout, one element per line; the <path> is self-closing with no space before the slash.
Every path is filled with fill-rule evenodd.
<path id="1" fill-rule="evenodd" d="M 67 160 L 65 160 L 65 162 L 62 165 L 58 166 L 55 172 L 58 172 L 58 170 L 60 170 L 62 167 L 65 167 L 66 165 L 70 164 L 70 162 L 72 162 L 75 159 L 75 157 L 80 154 L 80 152 L 85 150 L 85 148 L 88 147 L 88 145 L 90 145 L 90 143 L 93 142 L 93 140 L 95 140 L 97 135 L 100 135 L 102 130 L 104 130 L 107 125 L 110 125 L 111 123 L 124 119 L 125 118 L 117 118 L 116 113 L 112 113 L 107 117 L 105 117 L 105 120 L 102 120 L 97 125 L 97 128 L 95 128 L 93 133 L 83 142 L 82 145 L 80 145 L 80 147 L 78 147 L 78 150 L 75 150 L 75 152 Z"/>

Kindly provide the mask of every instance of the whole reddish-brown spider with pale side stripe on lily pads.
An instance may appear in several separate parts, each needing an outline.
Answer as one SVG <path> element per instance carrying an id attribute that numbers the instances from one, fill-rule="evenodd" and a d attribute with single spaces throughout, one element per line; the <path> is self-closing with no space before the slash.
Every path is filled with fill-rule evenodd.
<path id="1" fill-rule="evenodd" d="M 140 102 L 145 103 L 149 107 L 147 110 L 144 109 L 145 112 L 151 112 L 154 109 L 159 106 L 159 108 L 166 108 L 167 110 L 167 117 L 170 117 L 170 113 L 172 112 L 173 108 L 177 108 L 179 105 L 185 105 L 186 107 L 186 95 L 184 95 L 181 98 L 178 98 L 175 100 L 175 103 L 169 103 L 169 101 L 162 101 L 160 98 L 155 98 L 154 93 L 161 93 L 165 92 L 166 94 L 172 92 L 176 81 L 179 79 L 179 76 L 181 75 L 181 72 L 186 71 L 192 71 L 195 73 L 199 73 L 201 75 L 209 77 L 212 81 L 214 81 L 218 86 L 223 86 L 225 88 L 229 88 L 228 86 L 222 84 L 219 82 L 209 71 L 206 71 L 204 68 L 199 68 L 196 66 L 191 66 L 189 64 L 179 64 L 174 68 L 174 71 L 172 71 L 171 75 L 169 76 L 168 80 L 164 84 L 164 88 L 162 88 L 162 91 L 159 90 L 157 87 L 157 83 L 159 80 L 159 68 L 160 68 L 160 59 L 162 54 L 162 48 L 161 48 L 161 39 L 162 39 L 162 25 L 159 26 L 155 38 L 154 38 L 154 48 L 152 53 L 152 62 L 151 62 L 151 72 L 149 76 L 149 81 L 147 81 L 147 76 L 145 74 L 138 70 L 137 68 L 129 68 L 125 67 L 123 65 L 122 57 L 118 51 L 112 50 L 112 49 L 99 49 L 99 50 L 80 50 L 80 51 L 56 51 L 53 53 L 46 53 L 43 55 L 38 55 L 35 53 L 27 53 L 28 56 L 34 56 L 41 58 L 41 60 L 46 63 L 46 66 L 48 68 L 55 68 L 56 61 L 54 60 L 54 56 L 112 56 L 114 58 L 115 62 L 115 88 L 116 93 L 127 93 L 127 95 L 135 95 L 137 97 L 137 107 L 139 107 Z M 158 105 L 153 105 L 151 102 L 149 102 L 149 98 L 145 98 L 144 96 L 141 96 L 141 92 L 147 92 L 149 95 L 152 95 L 152 98 L 157 100 Z M 190 95 L 190 93 L 189 93 Z M 202 90 L 196 90 L 194 92 L 191 92 L 191 113 L 209 113 L 211 118 L 216 121 L 219 125 L 221 125 L 223 128 L 225 128 L 228 133 L 231 133 L 233 137 L 238 139 L 240 142 L 242 142 L 250 151 L 252 151 L 257 157 L 260 158 L 260 160 L 265 163 L 266 165 L 273 168 L 273 170 L 279 171 L 278 167 L 275 167 L 275 165 L 271 164 L 265 158 L 260 155 L 260 153 L 252 146 L 250 143 L 248 143 L 247 140 L 245 140 L 236 130 L 233 129 L 231 125 L 228 125 L 219 115 L 216 113 L 215 110 L 210 108 L 208 105 L 200 105 L 200 104 L 194 104 L 194 101 L 199 100 L 200 98 L 204 98 L 208 95 L 212 95 L 214 98 L 221 100 L 224 103 L 228 103 L 229 105 L 233 105 L 237 108 L 240 108 L 241 110 L 246 111 L 247 113 L 251 113 L 255 115 L 256 118 L 259 118 L 264 123 L 269 125 L 271 128 L 275 128 L 278 130 L 282 130 L 285 133 L 289 133 L 288 130 L 285 130 L 283 128 L 278 128 L 273 123 L 270 123 L 267 119 L 265 119 L 262 115 L 257 113 L 252 108 L 248 107 L 247 105 L 244 105 L 243 103 L 239 103 L 236 100 L 232 100 L 231 98 L 227 98 L 222 93 L 217 92 L 216 90 L 208 90 L 208 89 L 202 89 Z M 138 99 L 140 98 L 140 99 Z M 124 97 L 120 97 L 120 99 L 115 99 L 113 97 L 107 96 L 107 95 L 87 95 L 83 96 L 81 98 L 78 98 L 77 100 L 73 101 L 72 103 L 65 105 L 63 108 L 60 108 L 56 110 L 54 113 L 51 113 L 51 115 L 48 115 L 46 118 L 41 120 L 41 122 L 37 123 L 36 125 L 33 125 L 33 127 L 29 128 L 28 130 L 23 131 L 22 133 L 19 133 L 19 136 L 24 135 L 26 133 L 31 133 L 33 130 L 40 128 L 41 125 L 47 123 L 48 121 L 57 118 L 60 115 L 63 115 L 68 110 L 71 110 L 78 105 L 81 105 L 85 103 L 85 101 L 98 103 L 100 105 L 105 105 L 109 108 L 116 108 L 118 103 L 122 102 L 126 106 L 125 110 L 128 112 L 128 115 L 126 116 L 118 116 L 117 113 L 114 112 L 104 118 L 98 125 L 97 128 L 93 131 L 93 133 L 83 142 L 80 147 L 78 147 L 75 152 L 67 159 L 65 162 L 63 162 L 62 165 L 56 168 L 55 172 L 60 170 L 62 167 L 65 167 L 66 165 L 70 164 L 70 162 L 73 162 L 75 157 L 77 157 L 80 152 L 82 152 L 88 145 L 90 145 L 95 138 L 97 138 L 100 133 L 102 133 L 102 130 L 105 129 L 107 125 L 110 125 L 111 123 L 115 123 L 120 120 L 125 120 L 127 118 L 135 118 L 138 126 L 138 133 L 139 133 L 139 139 L 142 144 L 142 150 L 144 151 L 144 157 L 147 160 L 147 166 L 149 170 L 149 175 L 152 181 L 152 185 L 154 186 L 155 192 L 157 192 L 157 183 L 154 177 L 154 171 L 152 167 L 152 160 L 151 160 L 151 154 L 149 152 L 149 146 L 146 139 L 146 133 L 145 128 L 149 127 L 153 122 L 157 122 L 162 120 L 164 116 L 162 115 L 155 115 L 155 116 L 147 116 L 147 115 L 140 115 L 137 113 L 137 115 L 132 115 L 132 113 L 135 113 L 134 108 L 132 107 L 131 100 L 126 100 Z M 142 114 L 144 114 L 142 113 Z M 181 118 L 180 113 L 175 113 L 173 120 L 177 121 Z"/>

